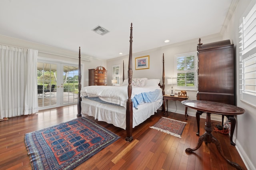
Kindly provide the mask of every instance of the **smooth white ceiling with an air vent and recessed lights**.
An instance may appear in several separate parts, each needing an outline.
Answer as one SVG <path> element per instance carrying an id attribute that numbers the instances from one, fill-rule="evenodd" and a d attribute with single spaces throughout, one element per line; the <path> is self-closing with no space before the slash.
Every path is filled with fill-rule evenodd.
<path id="1" fill-rule="evenodd" d="M 136 53 L 220 33 L 233 1 L 1 0 L 0 35 L 111 59 L 129 53 L 131 22 Z"/>

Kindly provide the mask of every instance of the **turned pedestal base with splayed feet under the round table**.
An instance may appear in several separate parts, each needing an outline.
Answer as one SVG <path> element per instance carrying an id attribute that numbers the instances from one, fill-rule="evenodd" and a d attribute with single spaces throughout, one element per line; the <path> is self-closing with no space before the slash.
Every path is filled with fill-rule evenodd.
<path id="1" fill-rule="evenodd" d="M 211 113 L 206 113 L 206 123 L 205 123 L 204 129 L 205 129 L 205 132 L 202 136 L 199 137 L 196 147 L 195 148 L 186 148 L 186 152 L 193 152 L 193 151 L 197 150 L 198 148 L 200 148 L 203 141 L 205 141 L 206 143 L 212 142 L 215 144 L 215 146 L 216 146 L 218 152 L 220 153 L 220 155 L 222 156 L 222 158 L 224 158 L 229 164 L 231 164 L 235 168 L 242 170 L 242 167 L 239 166 L 237 163 L 232 162 L 225 158 L 225 156 L 221 150 L 221 147 L 220 147 L 220 142 L 214 136 L 212 136 Z"/>

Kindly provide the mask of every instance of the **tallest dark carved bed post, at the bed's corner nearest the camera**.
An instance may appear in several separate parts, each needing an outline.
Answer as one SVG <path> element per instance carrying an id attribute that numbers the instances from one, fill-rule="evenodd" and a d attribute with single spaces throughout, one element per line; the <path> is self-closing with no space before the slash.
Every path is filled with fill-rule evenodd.
<path id="1" fill-rule="evenodd" d="M 126 102 L 126 138 L 125 140 L 131 142 L 132 137 L 132 23 L 130 28 L 130 52 L 129 52 L 129 65 L 128 65 L 128 100 Z"/>

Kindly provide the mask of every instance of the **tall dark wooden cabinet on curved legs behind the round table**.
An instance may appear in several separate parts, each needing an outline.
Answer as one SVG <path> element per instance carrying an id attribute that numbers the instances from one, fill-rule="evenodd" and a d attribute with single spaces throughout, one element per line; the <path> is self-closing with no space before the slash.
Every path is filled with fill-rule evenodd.
<path id="1" fill-rule="evenodd" d="M 234 45 L 230 40 L 197 45 L 198 51 L 198 93 L 197 100 L 214 101 L 235 105 L 235 76 L 234 76 Z M 197 111 L 198 123 L 201 111 Z M 232 141 L 236 120 L 233 115 L 224 115 L 231 122 L 230 141 Z M 224 116 L 222 116 L 222 124 Z"/>

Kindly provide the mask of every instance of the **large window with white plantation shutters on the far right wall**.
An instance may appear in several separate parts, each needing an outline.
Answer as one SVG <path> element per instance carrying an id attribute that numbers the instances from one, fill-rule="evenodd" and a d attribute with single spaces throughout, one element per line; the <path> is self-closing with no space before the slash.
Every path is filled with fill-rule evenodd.
<path id="1" fill-rule="evenodd" d="M 240 38 L 240 96 L 241 100 L 256 106 L 256 4 L 242 18 Z"/>

